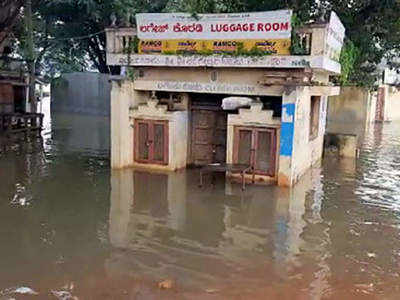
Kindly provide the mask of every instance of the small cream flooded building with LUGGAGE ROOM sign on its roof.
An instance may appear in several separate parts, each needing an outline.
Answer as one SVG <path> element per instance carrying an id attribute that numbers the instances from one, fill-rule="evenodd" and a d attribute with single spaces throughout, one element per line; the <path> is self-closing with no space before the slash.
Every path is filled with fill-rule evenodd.
<path id="1" fill-rule="evenodd" d="M 292 28 L 291 15 L 139 14 L 108 28 L 107 63 L 133 67 L 112 84 L 112 168 L 248 165 L 248 180 L 294 185 L 321 159 L 344 27 L 332 13 Z"/>

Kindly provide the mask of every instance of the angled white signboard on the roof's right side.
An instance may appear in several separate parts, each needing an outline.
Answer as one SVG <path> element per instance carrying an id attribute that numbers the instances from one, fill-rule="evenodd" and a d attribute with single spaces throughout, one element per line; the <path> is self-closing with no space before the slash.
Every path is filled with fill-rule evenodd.
<path id="1" fill-rule="evenodd" d="M 345 31 L 339 17 L 333 11 L 329 20 L 328 31 L 326 36 L 325 53 L 330 59 L 339 61 L 340 52 L 342 51 Z"/>

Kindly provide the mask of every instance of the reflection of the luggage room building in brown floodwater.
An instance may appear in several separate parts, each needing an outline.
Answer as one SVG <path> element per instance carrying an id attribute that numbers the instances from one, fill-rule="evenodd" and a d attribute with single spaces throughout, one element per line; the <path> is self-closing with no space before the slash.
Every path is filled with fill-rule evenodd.
<path id="1" fill-rule="evenodd" d="M 112 172 L 109 233 L 118 250 L 107 262 L 108 270 L 134 269 L 141 276 L 176 278 L 199 289 L 296 278 L 299 255 L 307 247 L 302 237 L 306 198 L 312 178 L 316 184 L 320 176 L 307 174 L 292 190 L 251 186 L 244 192 L 222 178 L 214 188 L 199 188 L 197 177 L 194 170 Z M 315 201 L 308 201 L 314 223 L 322 222 L 320 180 L 316 186 Z M 320 234 L 329 238 L 324 231 Z M 324 254 L 317 258 L 323 270 L 318 280 L 324 281 L 329 273 L 326 251 L 319 243 L 313 245 Z"/>

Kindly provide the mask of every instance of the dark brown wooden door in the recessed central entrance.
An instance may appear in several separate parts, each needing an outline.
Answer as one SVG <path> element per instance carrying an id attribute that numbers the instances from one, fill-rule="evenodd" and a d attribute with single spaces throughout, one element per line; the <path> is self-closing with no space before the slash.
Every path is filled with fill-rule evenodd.
<path id="1" fill-rule="evenodd" d="M 192 110 L 192 157 L 195 165 L 226 161 L 226 112 Z"/>

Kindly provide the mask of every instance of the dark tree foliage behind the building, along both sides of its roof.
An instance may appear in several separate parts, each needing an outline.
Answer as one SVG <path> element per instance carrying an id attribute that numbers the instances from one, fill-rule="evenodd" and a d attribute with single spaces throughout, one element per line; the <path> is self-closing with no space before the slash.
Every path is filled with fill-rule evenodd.
<path id="1" fill-rule="evenodd" d="M 4 0 L 17 2 L 13 0 Z M 37 67 L 43 73 L 96 69 L 117 73 L 105 60 L 110 16 L 134 22 L 138 12 L 229 13 L 293 9 L 301 23 L 334 10 L 346 27 L 341 84 L 370 85 L 383 58 L 400 53 L 398 0 L 33 0 Z M 1 22 L 1 16 L 0 16 Z M 1 23 L 0 23 L 1 26 Z M 23 45 L 23 30 L 20 44 Z M 350 42 L 351 41 L 351 42 Z M 350 47 L 350 48 L 349 48 Z"/>

